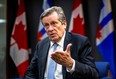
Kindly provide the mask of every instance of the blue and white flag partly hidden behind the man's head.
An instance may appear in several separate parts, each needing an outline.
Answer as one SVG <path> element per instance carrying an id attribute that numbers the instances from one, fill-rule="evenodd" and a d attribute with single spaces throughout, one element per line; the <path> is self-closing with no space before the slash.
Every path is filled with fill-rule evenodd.
<path id="1" fill-rule="evenodd" d="M 43 0 L 43 6 L 42 6 L 42 12 L 52 6 L 52 1 L 51 0 Z M 39 27 L 38 27 L 38 41 L 44 39 L 47 37 L 46 31 L 41 23 L 39 22 Z"/>

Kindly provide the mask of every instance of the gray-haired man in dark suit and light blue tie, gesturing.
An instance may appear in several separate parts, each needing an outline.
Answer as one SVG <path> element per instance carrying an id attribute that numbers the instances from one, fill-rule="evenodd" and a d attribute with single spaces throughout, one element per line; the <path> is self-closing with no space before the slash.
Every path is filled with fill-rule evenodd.
<path id="1" fill-rule="evenodd" d="M 66 32 L 67 22 L 62 8 L 48 8 L 40 18 L 48 37 L 37 44 L 25 79 L 98 79 L 88 38 Z M 54 43 L 57 43 L 57 50 L 53 52 Z M 56 66 L 49 78 L 53 71 L 49 70 L 51 59 Z"/>

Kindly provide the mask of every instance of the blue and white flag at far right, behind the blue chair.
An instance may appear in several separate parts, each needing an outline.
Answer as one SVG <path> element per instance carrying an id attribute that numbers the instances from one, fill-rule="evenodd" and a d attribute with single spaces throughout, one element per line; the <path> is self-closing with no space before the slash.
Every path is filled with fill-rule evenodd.
<path id="1" fill-rule="evenodd" d="M 114 28 L 110 0 L 102 0 L 96 45 L 104 61 L 110 63 L 110 72 L 116 79 L 116 52 L 114 48 Z"/>

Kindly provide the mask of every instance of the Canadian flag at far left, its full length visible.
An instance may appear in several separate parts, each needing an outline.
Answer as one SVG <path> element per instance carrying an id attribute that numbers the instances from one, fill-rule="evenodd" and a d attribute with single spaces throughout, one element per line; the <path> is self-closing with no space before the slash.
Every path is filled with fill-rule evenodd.
<path id="1" fill-rule="evenodd" d="M 10 56 L 17 67 L 20 78 L 24 77 L 24 73 L 29 65 L 28 54 L 24 0 L 18 0 L 17 17 L 11 35 Z"/>

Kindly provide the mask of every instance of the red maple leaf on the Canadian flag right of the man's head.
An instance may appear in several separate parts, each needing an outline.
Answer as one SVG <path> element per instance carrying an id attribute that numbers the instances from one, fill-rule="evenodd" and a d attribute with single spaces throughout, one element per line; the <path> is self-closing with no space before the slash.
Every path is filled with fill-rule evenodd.
<path id="1" fill-rule="evenodd" d="M 80 18 L 79 15 L 76 18 L 74 18 L 73 29 L 71 32 L 85 35 L 85 28 L 82 22 L 83 18 Z"/>

